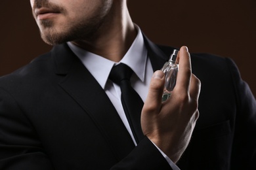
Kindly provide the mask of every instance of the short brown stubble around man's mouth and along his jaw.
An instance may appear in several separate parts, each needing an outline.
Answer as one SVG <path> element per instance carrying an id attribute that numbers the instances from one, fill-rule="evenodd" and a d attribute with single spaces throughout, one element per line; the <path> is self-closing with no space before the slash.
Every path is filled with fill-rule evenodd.
<path id="1" fill-rule="evenodd" d="M 104 23 L 104 16 L 97 11 L 91 17 L 85 16 L 84 18 L 77 19 L 68 18 L 68 12 L 63 7 L 49 3 L 47 0 L 35 0 L 33 9 L 40 7 L 58 11 L 65 18 L 62 25 L 57 24 L 54 19 L 37 21 L 41 38 L 50 45 L 62 44 L 68 41 L 91 41 L 96 38 L 96 32 Z M 104 7 L 99 10 L 104 10 Z M 34 12 L 33 15 L 35 17 Z"/>

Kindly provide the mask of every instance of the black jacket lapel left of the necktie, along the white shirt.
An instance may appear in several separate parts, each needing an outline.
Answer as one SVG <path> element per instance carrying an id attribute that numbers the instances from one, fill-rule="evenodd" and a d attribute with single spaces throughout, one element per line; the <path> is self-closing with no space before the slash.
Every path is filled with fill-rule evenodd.
<path id="1" fill-rule="evenodd" d="M 117 160 L 135 147 L 108 95 L 66 44 L 53 49 L 59 85 L 89 114 Z M 114 122 L 114 123 L 113 123 Z"/>

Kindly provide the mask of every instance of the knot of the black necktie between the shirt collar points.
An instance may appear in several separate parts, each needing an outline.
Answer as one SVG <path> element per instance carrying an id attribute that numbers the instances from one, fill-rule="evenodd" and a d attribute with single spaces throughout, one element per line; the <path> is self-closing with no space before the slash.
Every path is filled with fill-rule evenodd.
<path id="1" fill-rule="evenodd" d="M 125 65 L 124 63 L 119 63 L 114 66 L 110 71 L 110 80 L 116 84 L 120 84 L 121 80 L 130 80 L 133 70 Z"/>

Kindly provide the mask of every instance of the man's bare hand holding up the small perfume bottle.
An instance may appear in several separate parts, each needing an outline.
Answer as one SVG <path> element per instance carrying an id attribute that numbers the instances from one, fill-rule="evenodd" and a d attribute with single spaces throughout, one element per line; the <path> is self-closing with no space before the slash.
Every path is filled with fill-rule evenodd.
<path id="1" fill-rule="evenodd" d="M 158 146 L 174 163 L 188 146 L 198 119 L 198 97 L 201 82 L 191 73 L 190 54 L 186 46 L 179 52 L 176 86 L 167 101 L 161 102 L 164 74 L 156 71 L 150 82 L 142 109 L 144 135 Z"/>

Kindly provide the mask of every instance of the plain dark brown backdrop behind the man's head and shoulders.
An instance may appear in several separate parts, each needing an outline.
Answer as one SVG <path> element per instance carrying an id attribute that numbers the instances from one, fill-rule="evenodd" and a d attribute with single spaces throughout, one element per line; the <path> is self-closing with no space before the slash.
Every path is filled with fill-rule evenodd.
<path id="1" fill-rule="evenodd" d="M 255 0 L 129 0 L 128 4 L 133 21 L 152 41 L 234 59 L 256 95 Z M 28 0 L 0 1 L 0 75 L 51 49 L 41 41 L 31 13 Z"/>

